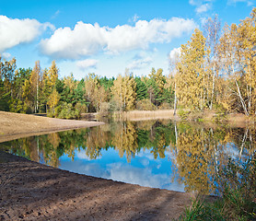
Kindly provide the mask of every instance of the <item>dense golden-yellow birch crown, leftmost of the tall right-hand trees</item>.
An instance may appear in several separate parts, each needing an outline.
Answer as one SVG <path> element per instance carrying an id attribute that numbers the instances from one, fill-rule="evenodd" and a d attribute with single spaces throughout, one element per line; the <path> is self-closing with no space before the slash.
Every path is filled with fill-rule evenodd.
<path id="1" fill-rule="evenodd" d="M 209 50 L 202 31 L 195 29 L 191 41 L 181 45 L 178 73 L 175 76 L 176 93 L 186 107 L 203 111 L 208 104 L 210 87 L 206 59 Z"/>

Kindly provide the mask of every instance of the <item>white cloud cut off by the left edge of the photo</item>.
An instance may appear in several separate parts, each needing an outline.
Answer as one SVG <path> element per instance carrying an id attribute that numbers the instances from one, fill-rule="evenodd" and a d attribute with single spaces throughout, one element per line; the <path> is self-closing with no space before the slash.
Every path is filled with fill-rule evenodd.
<path id="1" fill-rule="evenodd" d="M 36 19 L 12 19 L 0 16 L 0 52 L 20 43 L 29 43 L 41 34 L 41 31 L 54 27 L 50 23 L 40 23 Z"/>

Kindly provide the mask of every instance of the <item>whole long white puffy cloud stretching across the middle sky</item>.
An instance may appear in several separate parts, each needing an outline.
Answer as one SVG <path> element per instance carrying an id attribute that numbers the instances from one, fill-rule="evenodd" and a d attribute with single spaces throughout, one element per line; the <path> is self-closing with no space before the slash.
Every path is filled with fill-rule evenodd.
<path id="1" fill-rule="evenodd" d="M 169 42 L 196 27 L 192 19 L 172 17 L 169 20 L 138 20 L 134 26 L 115 28 L 99 24 L 76 23 L 74 29 L 56 29 L 52 37 L 41 41 L 41 52 L 55 58 L 77 59 L 97 52 L 118 54 L 147 49 L 150 43 Z"/>

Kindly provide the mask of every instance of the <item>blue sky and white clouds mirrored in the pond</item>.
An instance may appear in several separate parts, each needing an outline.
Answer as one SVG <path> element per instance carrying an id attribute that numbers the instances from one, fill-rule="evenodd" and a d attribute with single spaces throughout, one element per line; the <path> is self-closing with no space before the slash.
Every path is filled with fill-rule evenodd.
<path id="1" fill-rule="evenodd" d="M 184 186 L 174 180 L 171 183 L 171 162 L 154 160 L 152 154 L 140 153 L 127 163 L 125 158 L 120 158 L 114 150 L 102 153 L 101 159 L 89 160 L 84 151 L 76 152 L 76 159 L 61 158 L 61 169 L 86 174 L 89 176 L 118 180 L 138 184 L 145 187 L 184 191 Z"/>

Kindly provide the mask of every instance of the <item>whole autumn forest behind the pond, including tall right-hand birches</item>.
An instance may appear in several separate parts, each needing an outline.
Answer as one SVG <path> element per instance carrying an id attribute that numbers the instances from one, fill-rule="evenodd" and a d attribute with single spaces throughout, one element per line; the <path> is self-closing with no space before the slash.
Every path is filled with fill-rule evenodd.
<path id="1" fill-rule="evenodd" d="M 59 76 L 55 61 L 42 68 L 17 67 L 0 57 L 0 111 L 47 113 L 80 118 L 83 112 L 162 109 L 256 114 L 256 8 L 239 25 L 221 27 L 217 16 L 195 29 L 169 61 L 169 75 L 152 68 L 148 76 L 108 78 Z"/>

